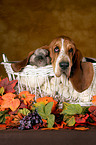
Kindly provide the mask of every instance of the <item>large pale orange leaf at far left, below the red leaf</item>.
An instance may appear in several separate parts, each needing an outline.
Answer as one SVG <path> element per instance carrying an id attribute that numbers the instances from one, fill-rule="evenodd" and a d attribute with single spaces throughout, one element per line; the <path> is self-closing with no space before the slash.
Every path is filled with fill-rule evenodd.
<path id="1" fill-rule="evenodd" d="M 3 95 L 1 108 L 10 108 L 12 111 L 15 111 L 20 105 L 20 100 L 14 99 L 15 97 L 16 95 L 13 93 L 7 93 Z"/>

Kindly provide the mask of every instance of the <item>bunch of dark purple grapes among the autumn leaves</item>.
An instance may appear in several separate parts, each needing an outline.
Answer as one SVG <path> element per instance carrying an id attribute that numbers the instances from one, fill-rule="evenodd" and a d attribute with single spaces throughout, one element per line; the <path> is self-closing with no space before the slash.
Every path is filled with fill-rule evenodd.
<path id="1" fill-rule="evenodd" d="M 33 111 L 25 116 L 22 120 L 20 120 L 20 126 L 18 129 L 38 129 L 43 124 L 41 116 L 37 113 L 37 111 Z"/>

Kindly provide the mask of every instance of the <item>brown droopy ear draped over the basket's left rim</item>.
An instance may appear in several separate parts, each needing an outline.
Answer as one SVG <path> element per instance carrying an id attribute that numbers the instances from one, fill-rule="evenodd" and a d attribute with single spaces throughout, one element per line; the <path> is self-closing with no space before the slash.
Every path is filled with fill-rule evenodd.
<path id="1" fill-rule="evenodd" d="M 15 71 L 15 72 L 19 72 L 21 71 L 22 68 L 24 68 L 27 64 L 28 64 L 28 61 L 29 61 L 29 58 L 30 56 L 34 53 L 34 51 L 31 51 L 27 58 L 25 58 L 24 60 L 21 60 L 21 61 L 18 61 L 18 62 L 14 62 L 11 64 L 11 67 L 12 69 Z"/>

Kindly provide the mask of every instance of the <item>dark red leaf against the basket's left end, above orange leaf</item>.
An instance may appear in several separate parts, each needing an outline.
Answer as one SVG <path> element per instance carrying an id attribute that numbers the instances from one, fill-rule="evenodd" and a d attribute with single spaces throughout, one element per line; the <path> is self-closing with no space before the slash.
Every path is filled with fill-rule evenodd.
<path id="1" fill-rule="evenodd" d="M 3 80 L 0 81 L 0 87 L 4 87 L 4 91 L 5 93 L 14 93 L 14 87 L 16 85 L 18 81 L 17 80 L 13 80 L 13 81 L 9 81 L 8 78 L 4 78 Z"/>

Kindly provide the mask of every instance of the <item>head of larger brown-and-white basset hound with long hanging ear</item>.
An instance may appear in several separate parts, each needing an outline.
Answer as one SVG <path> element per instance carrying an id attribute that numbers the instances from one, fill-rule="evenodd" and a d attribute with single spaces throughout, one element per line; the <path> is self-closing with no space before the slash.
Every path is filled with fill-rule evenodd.
<path id="1" fill-rule="evenodd" d="M 49 45 L 49 51 L 57 77 L 65 74 L 78 92 L 89 88 L 94 76 L 93 65 L 83 61 L 85 59 L 72 39 L 66 36 L 54 39 Z"/>

